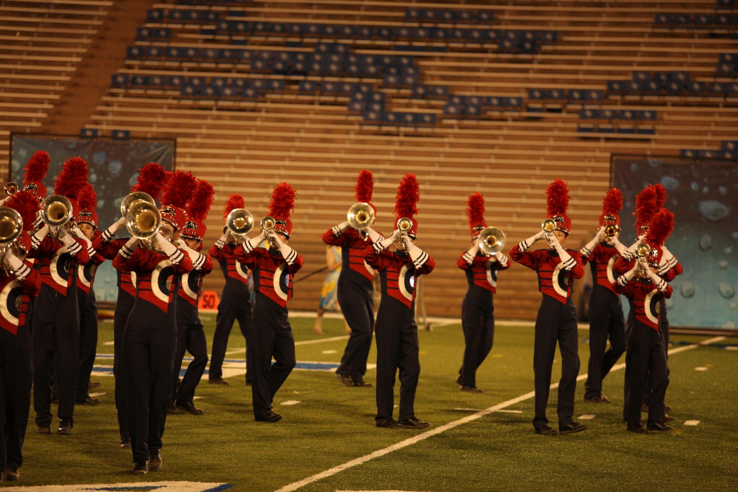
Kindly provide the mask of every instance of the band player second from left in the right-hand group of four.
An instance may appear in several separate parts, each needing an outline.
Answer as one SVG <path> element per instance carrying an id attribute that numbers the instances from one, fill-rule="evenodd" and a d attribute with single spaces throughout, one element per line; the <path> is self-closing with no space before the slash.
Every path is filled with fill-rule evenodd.
<path id="1" fill-rule="evenodd" d="M 623 194 L 617 188 L 611 188 L 602 201 L 597 234 L 579 250 L 582 264 L 590 263 L 593 278 L 589 303 L 590 361 L 587 382 L 584 383 L 584 400 L 592 403 L 610 403 L 602 392 L 602 380 L 625 352 L 623 305 L 613 290 L 613 266 L 626 250 L 618 240 L 618 212 L 622 207 Z M 608 338 L 610 350 L 605 351 Z"/>

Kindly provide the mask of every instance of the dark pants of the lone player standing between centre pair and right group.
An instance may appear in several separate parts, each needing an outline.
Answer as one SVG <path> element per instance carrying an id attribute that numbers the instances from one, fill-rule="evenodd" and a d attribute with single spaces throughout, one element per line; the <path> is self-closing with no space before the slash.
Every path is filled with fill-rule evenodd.
<path id="1" fill-rule="evenodd" d="M 477 369 L 492 350 L 494 303 L 492 292 L 470 285 L 461 303 L 464 351 L 459 377 L 463 386 L 477 386 Z"/>

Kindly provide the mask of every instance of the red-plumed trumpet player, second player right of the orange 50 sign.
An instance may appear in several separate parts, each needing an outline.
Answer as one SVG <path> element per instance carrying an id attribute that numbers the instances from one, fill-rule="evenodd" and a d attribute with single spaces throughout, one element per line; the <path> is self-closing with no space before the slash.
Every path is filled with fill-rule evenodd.
<path id="1" fill-rule="evenodd" d="M 272 409 L 272 401 L 296 364 L 287 311 L 287 301 L 292 299 L 292 277 L 303 266 L 303 257 L 289 246 L 292 236 L 289 214 L 294 208 L 294 195 L 295 190 L 288 183 L 277 184 L 269 201 L 274 227 L 262 230 L 260 235 L 235 249 L 236 259 L 254 275 L 254 330 L 246 358 L 252 359 L 254 417 L 263 422 L 277 422 L 282 418 Z M 266 221 L 265 218 L 263 222 Z M 259 247 L 263 240 L 268 240 L 268 250 Z"/>

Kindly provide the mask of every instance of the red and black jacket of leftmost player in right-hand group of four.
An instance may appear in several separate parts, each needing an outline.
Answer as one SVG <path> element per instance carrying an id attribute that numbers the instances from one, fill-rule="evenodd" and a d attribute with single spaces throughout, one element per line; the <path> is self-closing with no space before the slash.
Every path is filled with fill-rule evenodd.
<path id="1" fill-rule="evenodd" d="M 553 297 L 562 304 L 566 304 L 571 297 L 574 279 L 584 276 L 582 254 L 567 249 L 571 259 L 565 265 L 559 254 L 550 249 L 537 249 L 528 252 L 521 250 L 516 244 L 510 250 L 510 257 L 523 266 L 535 270 L 538 274 L 538 291 L 548 297 Z"/>

